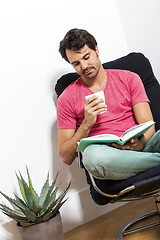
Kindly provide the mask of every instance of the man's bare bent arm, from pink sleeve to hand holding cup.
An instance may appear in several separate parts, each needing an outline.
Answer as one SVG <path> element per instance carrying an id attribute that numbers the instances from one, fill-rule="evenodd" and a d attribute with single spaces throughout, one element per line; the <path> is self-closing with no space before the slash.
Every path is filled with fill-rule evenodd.
<path id="1" fill-rule="evenodd" d="M 98 104 L 100 102 L 103 102 L 103 99 L 98 99 L 96 96 L 86 101 L 85 117 L 77 131 L 75 129 L 58 129 L 59 154 L 64 163 L 72 164 L 77 156 L 77 142 L 88 136 L 97 120 L 98 113 L 106 111 L 106 106 Z"/>

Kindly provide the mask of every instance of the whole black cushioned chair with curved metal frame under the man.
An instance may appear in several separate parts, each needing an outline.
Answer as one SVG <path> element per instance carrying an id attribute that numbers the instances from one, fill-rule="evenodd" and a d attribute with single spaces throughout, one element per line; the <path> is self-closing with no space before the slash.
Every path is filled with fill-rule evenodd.
<path id="1" fill-rule="evenodd" d="M 147 96 L 151 102 L 151 111 L 156 122 L 156 131 L 160 129 L 160 85 L 154 76 L 149 60 L 142 53 L 130 53 L 127 56 L 103 64 L 105 69 L 124 69 L 137 73 L 144 84 Z M 63 75 L 56 83 L 57 97 L 64 89 L 78 79 L 77 73 Z M 82 154 L 79 156 L 80 166 L 83 167 Z M 85 170 L 85 169 L 84 169 Z M 148 197 L 155 197 L 156 211 L 137 217 L 123 226 L 117 233 L 117 240 L 123 240 L 123 236 L 138 230 L 160 224 L 153 222 L 142 227 L 130 229 L 130 226 L 144 218 L 153 215 L 160 216 L 160 165 L 142 172 L 126 180 L 99 180 L 85 170 L 87 182 L 90 185 L 90 193 L 93 200 L 99 204 L 114 203 L 118 201 L 133 201 Z"/>

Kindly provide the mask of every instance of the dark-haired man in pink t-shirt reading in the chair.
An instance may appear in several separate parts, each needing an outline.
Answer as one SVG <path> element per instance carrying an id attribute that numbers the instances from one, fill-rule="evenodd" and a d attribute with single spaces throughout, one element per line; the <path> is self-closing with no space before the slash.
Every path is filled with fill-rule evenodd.
<path id="1" fill-rule="evenodd" d="M 105 70 L 90 33 L 70 30 L 59 51 L 81 76 L 57 103 L 59 153 L 64 163 L 72 164 L 81 138 L 103 133 L 120 136 L 132 126 L 153 120 L 139 76 L 125 70 Z M 86 95 L 101 90 L 106 105 L 99 104 L 103 99 L 97 96 L 85 100 Z M 98 179 L 129 178 L 160 164 L 159 135 L 152 126 L 142 137 L 132 138 L 123 146 L 90 145 L 84 151 L 83 164 Z"/>

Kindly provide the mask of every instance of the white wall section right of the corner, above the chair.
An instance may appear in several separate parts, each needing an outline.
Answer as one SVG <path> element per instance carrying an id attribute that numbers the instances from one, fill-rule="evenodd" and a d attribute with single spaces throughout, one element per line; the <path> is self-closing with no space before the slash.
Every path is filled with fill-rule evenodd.
<path id="1" fill-rule="evenodd" d="M 115 0 L 128 51 L 144 53 L 160 81 L 160 1 Z"/>

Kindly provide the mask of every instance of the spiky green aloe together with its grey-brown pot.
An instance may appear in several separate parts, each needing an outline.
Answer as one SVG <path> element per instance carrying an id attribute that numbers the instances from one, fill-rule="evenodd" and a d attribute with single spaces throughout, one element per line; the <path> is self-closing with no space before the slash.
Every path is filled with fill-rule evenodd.
<path id="1" fill-rule="evenodd" d="M 49 184 L 48 174 L 38 195 L 33 188 L 28 168 L 27 175 L 28 184 L 21 173 L 16 174 L 22 198 L 18 197 L 17 194 L 14 194 L 15 198 L 10 198 L 0 192 L 12 205 L 12 208 L 10 208 L 5 204 L 0 204 L 0 210 L 17 222 L 22 240 L 63 240 L 63 227 L 59 209 L 67 200 L 64 200 L 64 197 L 70 183 L 57 197 L 59 186 L 56 186 L 56 180 L 58 173 L 51 185 Z"/>

